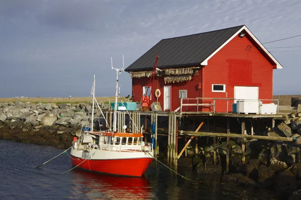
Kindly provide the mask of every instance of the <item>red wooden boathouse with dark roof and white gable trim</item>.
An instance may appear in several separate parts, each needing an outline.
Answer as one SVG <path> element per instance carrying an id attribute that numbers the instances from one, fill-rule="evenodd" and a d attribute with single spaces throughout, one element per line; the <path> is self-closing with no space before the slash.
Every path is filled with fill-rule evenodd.
<path id="1" fill-rule="evenodd" d="M 158 101 L 170 111 L 179 110 L 181 98 L 203 104 L 182 111 L 212 111 L 213 98 L 272 99 L 273 69 L 282 68 L 245 25 L 162 39 L 125 69 L 133 101 L 141 102 L 157 55 L 160 70 L 147 93 L 152 103 L 160 89 Z M 214 102 L 215 112 L 232 111 L 234 100 Z"/>

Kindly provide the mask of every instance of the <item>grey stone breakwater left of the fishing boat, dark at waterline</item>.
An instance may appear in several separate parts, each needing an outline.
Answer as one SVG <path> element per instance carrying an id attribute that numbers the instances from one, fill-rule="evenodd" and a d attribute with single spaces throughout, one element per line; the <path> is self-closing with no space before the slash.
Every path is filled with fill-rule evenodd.
<path id="1" fill-rule="evenodd" d="M 0 138 L 68 148 L 91 110 L 87 103 L 0 102 Z"/>

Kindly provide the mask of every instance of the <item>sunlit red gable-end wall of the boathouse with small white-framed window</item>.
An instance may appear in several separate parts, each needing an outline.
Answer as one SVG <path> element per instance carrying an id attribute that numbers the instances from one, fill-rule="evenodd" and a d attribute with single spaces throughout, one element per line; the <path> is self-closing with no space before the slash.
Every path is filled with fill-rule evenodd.
<path id="1" fill-rule="evenodd" d="M 258 86 L 259 99 L 272 99 L 272 78 L 272 64 L 247 36 L 235 36 L 204 67 L 203 95 L 234 98 L 234 86 Z M 212 84 L 226 84 L 226 92 L 212 92 Z M 216 112 L 226 111 L 226 104 L 225 100 L 216 101 Z"/>

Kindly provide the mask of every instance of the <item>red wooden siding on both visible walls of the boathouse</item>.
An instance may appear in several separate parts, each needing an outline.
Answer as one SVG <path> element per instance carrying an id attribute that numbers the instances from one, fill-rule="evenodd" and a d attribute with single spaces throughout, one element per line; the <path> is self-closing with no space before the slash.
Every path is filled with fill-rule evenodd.
<path id="1" fill-rule="evenodd" d="M 193 76 L 193 79 L 180 83 L 165 83 L 164 77 L 156 77 L 152 88 L 152 100 L 157 101 L 154 92 L 157 88 L 161 90 L 161 96 L 158 101 L 163 109 L 163 86 L 171 85 L 172 104 L 171 110 L 180 106 L 179 90 L 187 89 L 188 98 L 196 97 L 222 97 L 233 98 L 234 86 L 258 86 L 259 99 L 272 99 L 272 64 L 258 51 L 251 41 L 244 36 L 239 38 L 235 36 L 228 44 L 219 50 L 208 60 L 208 65 L 199 70 L 199 74 Z M 160 60 L 159 60 L 160 62 Z M 203 81 L 202 81 L 203 79 Z M 149 78 L 133 78 L 132 94 L 134 101 L 140 102 L 142 96 L 142 87 L 147 86 Z M 197 84 L 202 83 L 202 89 L 197 88 Z M 226 84 L 226 92 L 212 92 L 212 84 Z M 203 103 L 212 100 L 203 100 Z M 228 111 L 232 111 L 232 103 L 228 103 Z M 196 103 L 188 100 L 185 103 Z M 216 101 L 216 112 L 225 112 L 227 110 L 226 100 Z M 210 108 L 212 111 L 212 107 Z M 183 111 L 195 111 L 196 107 L 184 106 Z M 204 108 L 203 111 L 209 109 Z"/>

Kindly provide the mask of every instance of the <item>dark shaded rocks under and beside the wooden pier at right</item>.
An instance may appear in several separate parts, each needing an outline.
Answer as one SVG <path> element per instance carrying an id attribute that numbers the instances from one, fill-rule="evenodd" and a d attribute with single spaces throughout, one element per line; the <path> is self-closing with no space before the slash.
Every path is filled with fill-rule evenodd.
<path id="1" fill-rule="evenodd" d="M 274 131 L 267 128 L 263 135 L 292 137 L 292 142 L 250 139 L 245 141 L 246 162 L 242 163 L 241 139 L 229 141 L 229 173 L 224 182 L 241 185 L 271 186 L 277 195 L 301 199 L 301 104 L 297 112 L 286 115 Z M 193 170 L 199 173 L 222 173 L 226 170 L 225 139 L 216 146 L 199 147 L 199 153 L 188 150 Z M 217 163 L 214 163 L 214 152 Z"/>

